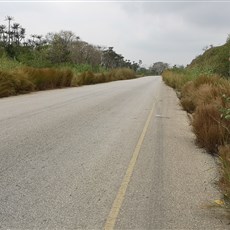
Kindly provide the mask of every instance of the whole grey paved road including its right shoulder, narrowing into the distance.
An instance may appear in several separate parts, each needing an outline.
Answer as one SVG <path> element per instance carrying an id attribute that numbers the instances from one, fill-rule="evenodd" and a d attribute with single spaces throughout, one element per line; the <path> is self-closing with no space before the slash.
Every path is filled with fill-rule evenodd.
<path id="1" fill-rule="evenodd" d="M 103 229 L 116 198 L 115 229 L 229 227 L 203 208 L 215 163 L 160 77 L 4 98 L 0 130 L 0 228 Z"/>

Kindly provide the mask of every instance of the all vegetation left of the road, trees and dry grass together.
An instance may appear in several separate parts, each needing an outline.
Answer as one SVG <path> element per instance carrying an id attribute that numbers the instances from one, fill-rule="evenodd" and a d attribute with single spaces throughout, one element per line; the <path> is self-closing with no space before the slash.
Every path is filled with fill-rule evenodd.
<path id="1" fill-rule="evenodd" d="M 87 43 L 71 31 L 33 34 L 6 17 L 0 25 L 0 97 L 150 74 L 113 47 Z"/>

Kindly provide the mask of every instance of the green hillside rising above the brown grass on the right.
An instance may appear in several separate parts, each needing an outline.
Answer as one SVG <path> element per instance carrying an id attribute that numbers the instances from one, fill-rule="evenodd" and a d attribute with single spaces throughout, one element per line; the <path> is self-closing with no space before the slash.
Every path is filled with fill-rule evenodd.
<path id="1" fill-rule="evenodd" d="M 199 69 L 200 71 L 209 71 L 221 76 L 230 77 L 229 67 L 230 42 L 218 47 L 211 47 L 202 55 L 196 57 L 188 69 Z"/>

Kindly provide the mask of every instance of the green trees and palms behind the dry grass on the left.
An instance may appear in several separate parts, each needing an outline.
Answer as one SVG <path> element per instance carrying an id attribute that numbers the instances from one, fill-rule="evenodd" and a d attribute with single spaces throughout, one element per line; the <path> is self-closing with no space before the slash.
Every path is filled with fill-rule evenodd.
<path id="1" fill-rule="evenodd" d="M 114 47 L 92 45 L 82 40 L 72 31 L 62 30 L 45 36 L 26 36 L 26 29 L 14 18 L 6 16 L 6 24 L 0 25 L 0 54 L 16 59 L 27 65 L 45 67 L 69 64 L 88 64 L 107 69 L 128 67 L 136 71 L 142 61 L 130 61 L 118 54 Z"/>

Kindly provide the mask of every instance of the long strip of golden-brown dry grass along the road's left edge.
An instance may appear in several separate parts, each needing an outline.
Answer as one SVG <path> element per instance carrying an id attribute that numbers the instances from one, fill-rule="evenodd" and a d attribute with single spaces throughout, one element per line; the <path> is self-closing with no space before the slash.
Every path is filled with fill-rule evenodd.
<path id="1" fill-rule="evenodd" d="M 0 71 L 0 97 L 33 90 L 91 85 L 135 77 L 135 72 L 128 68 L 114 69 L 105 74 L 94 74 L 87 71 L 74 75 L 69 69 L 23 67 L 15 69 L 13 72 Z"/>

